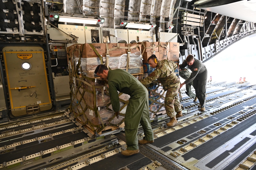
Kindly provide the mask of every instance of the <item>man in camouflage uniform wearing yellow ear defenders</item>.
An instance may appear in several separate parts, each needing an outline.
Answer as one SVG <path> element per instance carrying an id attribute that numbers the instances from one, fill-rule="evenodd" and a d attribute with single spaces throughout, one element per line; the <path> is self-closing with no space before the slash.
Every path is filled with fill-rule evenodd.
<path id="1" fill-rule="evenodd" d="M 176 117 L 182 116 L 182 109 L 178 98 L 180 80 L 174 73 L 177 64 L 168 60 L 158 62 L 157 57 L 154 54 L 148 58 L 148 64 L 152 68 L 156 68 L 156 70 L 149 74 L 148 77 L 140 80 L 140 82 L 146 86 L 152 81 L 158 80 L 162 84 L 163 89 L 165 91 L 167 90 L 165 95 L 165 110 L 167 116 L 171 118 L 170 122 L 167 123 L 167 126 L 174 126 L 177 124 Z M 175 112 L 177 112 L 176 116 Z"/>

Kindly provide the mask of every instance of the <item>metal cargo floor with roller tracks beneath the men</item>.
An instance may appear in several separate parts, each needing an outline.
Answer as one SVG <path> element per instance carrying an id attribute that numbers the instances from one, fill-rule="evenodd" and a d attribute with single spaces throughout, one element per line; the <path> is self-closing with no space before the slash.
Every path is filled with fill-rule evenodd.
<path id="1" fill-rule="evenodd" d="M 120 153 L 126 146 L 124 132 L 91 139 L 68 114 L 2 126 L 0 169 L 206 170 L 246 167 L 248 162 L 255 168 L 251 157 L 256 158 L 256 92 L 208 87 L 207 95 L 205 112 L 184 95 L 181 103 L 187 108 L 175 127 L 167 127 L 169 118 L 158 115 L 151 123 L 155 142 L 140 145 L 140 153 L 130 157 Z M 24 131 L 19 132 L 19 126 Z M 139 128 L 138 138 L 143 136 Z"/>

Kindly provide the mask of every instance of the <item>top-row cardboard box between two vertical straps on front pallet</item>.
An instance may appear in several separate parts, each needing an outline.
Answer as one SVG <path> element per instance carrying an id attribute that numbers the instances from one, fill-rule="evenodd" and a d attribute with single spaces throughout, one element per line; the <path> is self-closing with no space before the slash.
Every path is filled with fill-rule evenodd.
<path id="1" fill-rule="evenodd" d="M 127 54 L 127 50 L 125 49 L 125 43 L 108 43 L 106 44 L 106 49 L 109 49 L 110 57 L 121 56 L 122 54 Z M 113 48 L 120 47 L 116 50 L 112 50 Z M 124 48 L 122 48 L 124 47 Z"/>

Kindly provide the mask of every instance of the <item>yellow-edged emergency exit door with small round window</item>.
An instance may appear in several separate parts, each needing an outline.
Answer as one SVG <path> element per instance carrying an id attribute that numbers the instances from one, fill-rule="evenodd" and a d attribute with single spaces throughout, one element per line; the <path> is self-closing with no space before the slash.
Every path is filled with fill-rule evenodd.
<path id="1" fill-rule="evenodd" d="M 51 109 L 44 50 L 41 47 L 4 47 L 3 57 L 12 115 Z"/>

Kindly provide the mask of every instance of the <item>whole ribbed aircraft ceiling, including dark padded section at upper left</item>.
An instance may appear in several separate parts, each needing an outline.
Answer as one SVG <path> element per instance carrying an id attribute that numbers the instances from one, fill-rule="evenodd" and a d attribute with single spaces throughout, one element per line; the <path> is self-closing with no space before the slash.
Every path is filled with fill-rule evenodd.
<path id="1" fill-rule="evenodd" d="M 255 32 L 255 0 L 54 0 L 3 3 L 0 41 L 47 42 L 47 25 L 58 24 L 127 29 L 121 21 L 155 24 L 150 37 L 161 41 L 160 33 L 177 33 L 180 61 L 193 54 L 209 60 L 235 41 Z M 50 13 L 88 18 L 103 17 L 103 24 L 77 24 L 51 20 Z M 141 28 L 130 28 L 143 30 Z M 6 36 L 9 35 L 9 36 Z M 25 37 L 24 37 L 25 36 Z M 38 36 L 38 37 L 36 37 Z M 81 38 L 81 37 L 80 37 Z M 152 38 L 153 39 L 153 38 Z M 141 40 L 142 41 L 142 40 Z"/>

